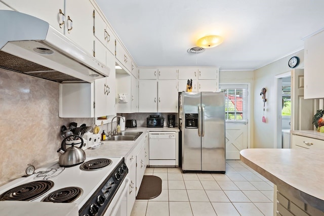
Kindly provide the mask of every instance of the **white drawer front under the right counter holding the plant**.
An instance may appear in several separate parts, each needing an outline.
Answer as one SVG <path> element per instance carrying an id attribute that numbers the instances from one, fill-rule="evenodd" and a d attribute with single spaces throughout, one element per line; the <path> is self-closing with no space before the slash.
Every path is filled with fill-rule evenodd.
<path id="1" fill-rule="evenodd" d="M 324 140 L 318 140 L 310 137 L 292 135 L 292 148 L 303 149 L 324 149 Z"/>

